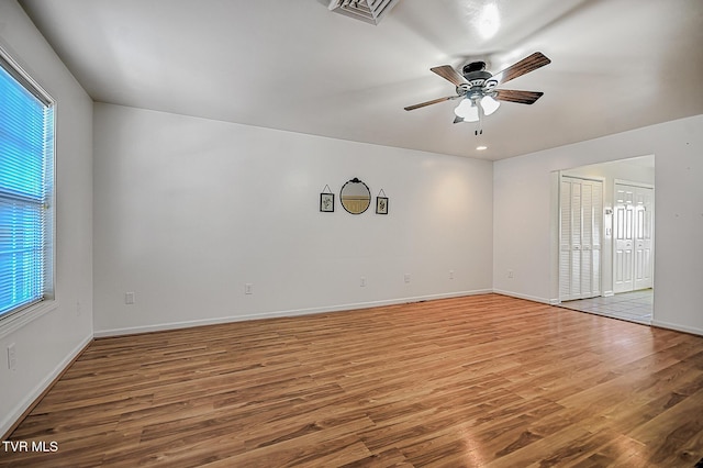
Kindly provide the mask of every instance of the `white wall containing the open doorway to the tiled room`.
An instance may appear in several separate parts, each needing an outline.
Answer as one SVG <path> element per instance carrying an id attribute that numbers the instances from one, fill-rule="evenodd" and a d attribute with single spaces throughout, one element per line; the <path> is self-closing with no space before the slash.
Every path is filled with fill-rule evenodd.
<path id="1" fill-rule="evenodd" d="M 655 155 L 654 324 L 703 334 L 703 115 L 496 161 L 493 287 L 544 302 L 557 298 L 553 171 Z M 513 270 L 513 278 L 507 278 Z"/>

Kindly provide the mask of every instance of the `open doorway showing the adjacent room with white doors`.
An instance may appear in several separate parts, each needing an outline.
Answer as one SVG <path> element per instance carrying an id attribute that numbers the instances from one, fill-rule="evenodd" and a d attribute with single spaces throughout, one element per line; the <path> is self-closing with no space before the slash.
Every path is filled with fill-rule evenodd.
<path id="1" fill-rule="evenodd" d="M 651 323 L 654 159 L 643 156 L 555 172 L 553 303 Z"/>

